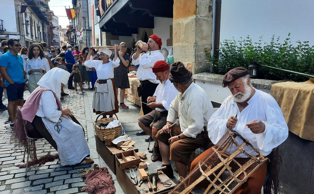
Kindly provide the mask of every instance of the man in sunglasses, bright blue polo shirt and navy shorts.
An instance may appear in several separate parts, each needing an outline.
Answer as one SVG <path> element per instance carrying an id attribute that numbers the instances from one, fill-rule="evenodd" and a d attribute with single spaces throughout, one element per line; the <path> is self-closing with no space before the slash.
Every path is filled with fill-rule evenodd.
<path id="1" fill-rule="evenodd" d="M 5 78 L 4 86 L 7 88 L 10 127 L 13 129 L 16 106 L 23 106 L 27 79 L 23 68 L 23 58 L 18 54 L 21 50 L 19 40 L 16 38 L 9 39 L 8 47 L 9 52 L 0 57 L 0 70 L 1 75 Z"/>

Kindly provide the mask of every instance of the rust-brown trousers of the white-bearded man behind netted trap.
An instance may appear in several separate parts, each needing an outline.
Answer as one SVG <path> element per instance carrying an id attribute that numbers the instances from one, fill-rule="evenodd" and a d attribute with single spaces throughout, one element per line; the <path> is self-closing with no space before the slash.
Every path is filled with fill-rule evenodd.
<path id="1" fill-rule="evenodd" d="M 198 166 L 198 162 L 202 160 L 208 152 L 210 152 L 212 149 L 209 148 L 206 151 L 204 151 L 202 154 L 200 154 L 197 158 L 193 160 L 191 163 L 191 169 L 192 170 Z M 249 173 L 249 172 L 248 172 Z M 267 162 L 262 164 L 247 180 L 245 183 L 243 183 L 236 191 L 235 194 L 261 194 L 261 190 L 264 184 L 264 180 L 266 178 L 267 173 Z"/>

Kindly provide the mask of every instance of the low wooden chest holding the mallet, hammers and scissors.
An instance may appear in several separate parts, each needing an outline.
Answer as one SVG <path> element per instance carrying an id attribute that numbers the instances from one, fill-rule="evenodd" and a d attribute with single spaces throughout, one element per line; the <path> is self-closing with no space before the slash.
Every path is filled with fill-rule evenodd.
<path id="1" fill-rule="evenodd" d="M 116 163 L 118 163 L 118 162 L 119 161 L 116 160 Z M 118 165 L 119 164 L 116 164 L 116 166 L 118 166 Z M 147 165 L 147 167 L 148 168 L 145 169 L 145 171 L 154 170 L 154 169 L 159 168 L 154 163 Z M 138 166 L 137 166 L 137 168 L 138 168 Z M 141 178 L 138 174 L 138 170 L 135 171 L 135 174 L 137 176 L 138 181 L 140 181 Z M 136 193 L 144 193 L 143 189 L 148 190 L 147 180 L 145 180 L 140 187 L 138 186 L 138 184 L 134 185 L 131 181 L 130 174 L 125 172 L 125 170 L 122 170 L 120 168 L 116 168 L 116 178 L 117 178 L 117 181 L 118 181 L 119 185 L 121 186 L 122 191 L 124 193 L 136 194 Z M 171 191 L 176 186 L 176 184 L 172 180 L 170 180 L 172 185 L 170 187 L 165 187 L 160 182 L 166 181 L 166 180 L 169 180 L 167 175 L 165 175 L 164 173 L 159 174 L 159 180 L 157 180 L 157 186 L 158 186 L 157 190 L 156 191 L 154 191 L 154 190 L 149 191 L 149 192 L 147 192 L 147 194 L 155 194 L 155 193 L 156 194 L 167 194 L 169 191 Z"/>

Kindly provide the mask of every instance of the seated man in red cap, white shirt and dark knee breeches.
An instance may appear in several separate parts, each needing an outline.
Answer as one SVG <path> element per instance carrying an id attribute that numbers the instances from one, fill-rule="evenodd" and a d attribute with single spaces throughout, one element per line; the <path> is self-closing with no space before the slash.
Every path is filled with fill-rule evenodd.
<path id="1" fill-rule="evenodd" d="M 166 125 L 170 103 L 176 97 L 178 91 L 168 79 L 170 74 L 169 64 L 164 60 L 157 61 L 152 67 L 152 70 L 157 80 L 160 80 L 154 95 L 147 98 L 147 106 L 153 109 L 153 111 L 140 117 L 138 119 L 138 126 L 152 136 L 155 141 L 151 157 L 151 160 L 154 162 L 161 160 L 159 143 L 155 136 Z M 158 111 L 160 111 L 160 117 L 156 118 L 155 113 Z"/>

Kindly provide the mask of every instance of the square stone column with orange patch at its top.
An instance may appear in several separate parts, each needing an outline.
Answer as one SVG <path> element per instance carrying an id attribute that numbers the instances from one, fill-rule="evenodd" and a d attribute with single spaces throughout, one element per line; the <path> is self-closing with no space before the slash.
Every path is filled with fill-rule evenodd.
<path id="1" fill-rule="evenodd" d="M 209 72 L 204 48 L 212 50 L 214 0 L 174 0 L 173 57 L 193 74 Z"/>

